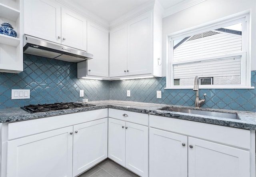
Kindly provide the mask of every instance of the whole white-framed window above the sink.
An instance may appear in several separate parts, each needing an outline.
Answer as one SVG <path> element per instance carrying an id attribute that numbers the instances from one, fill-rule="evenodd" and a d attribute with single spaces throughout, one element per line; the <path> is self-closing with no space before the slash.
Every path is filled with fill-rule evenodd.
<path id="1" fill-rule="evenodd" d="M 171 35 L 166 88 L 250 88 L 248 16 Z M 170 67 L 169 67 L 170 66 Z"/>

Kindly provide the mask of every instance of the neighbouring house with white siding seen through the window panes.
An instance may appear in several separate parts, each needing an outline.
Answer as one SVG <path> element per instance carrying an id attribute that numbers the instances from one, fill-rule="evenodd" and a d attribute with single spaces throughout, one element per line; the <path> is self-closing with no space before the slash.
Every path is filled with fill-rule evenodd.
<path id="1" fill-rule="evenodd" d="M 242 23 L 174 40 L 175 85 L 192 85 L 194 76 L 211 77 L 210 84 L 240 84 L 240 56 L 189 62 L 191 59 L 242 51 Z M 204 72 L 208 68 L 207 72 Z M 210 72 L 209 72 L 210 71 Z"/>

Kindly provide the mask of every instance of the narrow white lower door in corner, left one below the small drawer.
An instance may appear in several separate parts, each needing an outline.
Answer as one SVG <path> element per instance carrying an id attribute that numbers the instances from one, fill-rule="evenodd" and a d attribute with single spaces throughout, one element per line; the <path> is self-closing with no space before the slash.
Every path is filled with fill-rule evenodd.
<path id="1" fill-rule="evenodd" d="M 108 118 L 108 157 L 125 166 L 125 121 Z"/>

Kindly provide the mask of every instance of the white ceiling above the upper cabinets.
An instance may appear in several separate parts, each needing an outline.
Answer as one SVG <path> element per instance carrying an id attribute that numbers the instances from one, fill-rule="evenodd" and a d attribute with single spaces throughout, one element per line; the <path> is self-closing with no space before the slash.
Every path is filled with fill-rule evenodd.
<path id="1" fill-rule="evenodd" d="M 143 4 L 154 2 L 155 0 L 68 0 L 78 4 L 81 8 L 89 10 L 98 17 L 112 22 L 116 18 L 130 12 L 134 8 Z M 171 8 L 181 2 L 188 0 L 158 0 L 164 10 Z"/>

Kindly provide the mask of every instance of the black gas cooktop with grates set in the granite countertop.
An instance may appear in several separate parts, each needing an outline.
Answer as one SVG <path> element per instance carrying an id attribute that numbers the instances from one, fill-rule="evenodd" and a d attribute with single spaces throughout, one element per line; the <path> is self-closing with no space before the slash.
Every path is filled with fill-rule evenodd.
<path id="1" fill-rule="evenodd" d="M 24 109 L 25 111 L 28 111 L 30 113 L 35 113 L 35 112 L 54 111 L 54 110 L 70 109 L 70 108 L 77 108 L 77 107 L 89 107 L 89 106 L 95 106 L 95 105 L 88 104 L 88 103 L 70 102 L 70 103 L 27 105 L 27 106 L 21 107 L 21 109 Z"/>

